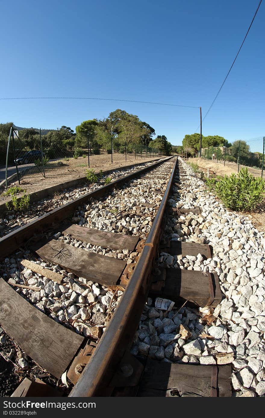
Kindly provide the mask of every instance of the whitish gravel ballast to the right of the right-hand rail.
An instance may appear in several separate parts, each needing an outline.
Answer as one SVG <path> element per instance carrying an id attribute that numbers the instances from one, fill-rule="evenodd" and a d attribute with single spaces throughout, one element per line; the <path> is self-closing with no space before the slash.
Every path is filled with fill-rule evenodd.
<path id="1" fill-rule="evenodd" d="M 170 240 L 207 243 L 213 256 L 204 260 L 161 252 L 161 267 L 216 272 L 223 293 L 215 308 L 176 307 L 164 317 L 147 301 L 131 352 L 166 362 L 230 364 L 233 396 L 265 395 L 265 239 L 247 216 L 230 212 L 179 158 L 187 173 L 181 190 L 173 188 L 173 208 L 199 206 L 200 214 L 167 220 Z M 183 179 L 180 174 L 180 178 Z M 207 321 L 207 317 L 213 321 Z M 212 317 L 214 316 L 214 317 Z M 182 328 L 184 327 L 184 328 Z"/>

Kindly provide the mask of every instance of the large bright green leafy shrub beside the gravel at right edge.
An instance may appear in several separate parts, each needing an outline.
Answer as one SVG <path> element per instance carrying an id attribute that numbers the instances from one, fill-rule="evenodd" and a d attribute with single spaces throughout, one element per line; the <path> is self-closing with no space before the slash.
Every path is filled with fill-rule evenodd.
<path id="1" fill-rule="evenodd" d="M 223 204 L 234 211 L 254 210 L 264 198 L 265 181 L 261 177 L 252 176 L 247 168 L 241 168 L 238 174 L 232 173 L 210 185 Z"/>

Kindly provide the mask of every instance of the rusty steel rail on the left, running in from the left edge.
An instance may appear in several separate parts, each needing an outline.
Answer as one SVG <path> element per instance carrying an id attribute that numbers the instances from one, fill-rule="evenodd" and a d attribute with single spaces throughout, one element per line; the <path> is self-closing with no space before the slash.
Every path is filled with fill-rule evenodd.
<path id="1" fill-rule="evenodd" d="M 53 228 L 56 229 L 58 225 L 70 216 L 78 206 L 82 206 L 89 199 L 102 197 L 115 188 L 121 187 L 123 184 L 131 181 L 132 179 L 140 176 L 141 174 L 151 171 L 153 168 L 161 165 L 162 163 L 168 161 L 170 158 L 165 158 L 162 161 L 158 161 L 151 166 L 141 168 L 140 170 L 135 171 L 134 173 L 128 174 L 118 180 L 112 181 L 106 186 L 99 187 L 98 189 L 91 191 L 77 199 L 70 201 L 57 209 L 40 216 L 38 219 L 35 219 L 28 224 L 20 227 L 19 229 L 10 232 L 10 234 L 5 235 L 0 238 L 0 260 L 10 255 L 13 251 L 17 250 L 21 245 L 25 244 L 31 237 L 36 234 L 42 234 L 43 232 Z"/>

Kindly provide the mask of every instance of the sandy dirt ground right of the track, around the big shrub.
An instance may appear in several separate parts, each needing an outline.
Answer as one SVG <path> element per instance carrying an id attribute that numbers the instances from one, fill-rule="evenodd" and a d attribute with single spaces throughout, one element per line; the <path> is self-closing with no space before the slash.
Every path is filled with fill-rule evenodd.
<path id="1" fill-rule="evenodd" d="M 220 164 L 219 163 L 217 164 L 214 161 L 207 161 L 207 160 L 204 160 L 203 158 L 188 158 L 187 162 L 198 164 L 199 168 L 202 168 L 204 173 L 205 172 L 207 173 L 207 168 L 209 168 L 210 174 L 214 173 L 217 176 L 225 176 L 225 174 L 227 174 L 227 176 L 230 176 L 230 174 L 232 173 L 237 173 L 237 165 L 235 163 L 234 163 L 235 164 L 235 169 L 234 169 L 231 166 L 227 166 L 227 165 L 224 166 L 223 162 Z M 258 171 L 258 170 L 254 170 L 254 171 Z M 259 176 L 260 176 L 260 173 L 261 172 L 259 171 Z M 248 212 L 247 214 L 244 213 L 244 215 L 247 215 L 250 218 L 252 224 L 255 226 L 255 228 L 257 228 L 258 231 L 265 232 L 265 201 L 263 201 L 262 204 L 260 204 L 255 209 L 255 211 Z"/>

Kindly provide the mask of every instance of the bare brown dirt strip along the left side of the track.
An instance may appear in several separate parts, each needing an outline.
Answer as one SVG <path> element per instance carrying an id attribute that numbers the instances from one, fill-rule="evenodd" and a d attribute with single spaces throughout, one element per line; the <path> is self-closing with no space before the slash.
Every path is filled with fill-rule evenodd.
<path id="1" fill-rule="evenodd" d="M 115 153 L 113 155 L 113 164 L 111 164 L 111 154 L 91 155 L 90 168 L 94 168 L 96 172 L 99 170 L 115 170 L 116 168 L 129 166 L 133 163 L 145 163 L 159 158 L 161 157 L 153 157 L 153 155 L 151 155 L 151 158 L 146 158 L 145 154 L 143 154 L 143 158 L 141 158 L 141 155 L 136 154 L 135 159 L 134 154 L 128 154 L 127 161 L 125 161 L 125 154 Z M 58 166 L 58 163 L 63 163 L 63 166 Z M 27 193 L 32 193 L 38 190 L 46 189 L 50 186 L 55 186 L 56 184 L 64 183 L 65 181 L 73 180 L 78 177 L 84 177 L 86 175 L 87 168 L 87 157 L 83 158 L 81 156 L 76 160 L 74 158 L 69 158 L 68 161 L 65 159 L 53 161 L 45 166 L 45 178 L 43 177 L 43 174 L 37 170 L 37 168 L 34 168 L 34 172 L 25 174 L 21 177 L 20 184 Z M 18 181 L 13 182 L 12 184 L 18 185 Z M 6 200 L 6 198 L 3 200 Z"/>

